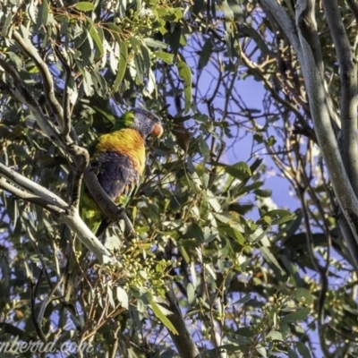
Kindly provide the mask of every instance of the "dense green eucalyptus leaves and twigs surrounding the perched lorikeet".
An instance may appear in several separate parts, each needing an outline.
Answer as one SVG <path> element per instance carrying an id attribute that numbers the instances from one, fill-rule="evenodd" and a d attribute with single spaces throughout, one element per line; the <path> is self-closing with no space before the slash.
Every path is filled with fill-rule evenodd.
<path id="1" fill-rule="evenodd" d="M 352 11 L 340 10 L 356 46 Z M 113 357 L 354 356 L 354 264 L 301 65 L 267 7 L 9 0 L 0 26 L 0 163 L 43 188 L 42 197 L 0 167 L 2 342 L 54 342 L 57 351 L 87 342 L 92 356 Z M 337 107 L 329 31 L 320 40 Z M 263 85 L 262 104 L 257 93 L 247 103 L 249 85 Z M 125 237 L 123 223 L 107 230 L 115 264 L 77 250 L 70 290 L 66 263 L 80 234 L 34 197 L 46 188 L 71 215 L 81 172 L 73 143 L 89 148 L 115 115 L 142 105 L 162 115 L 166 133 L 150 143 L 125 210 L 136 235 Z M 300 208 L 277 207 L 265 184 L 272 167 Z"/>

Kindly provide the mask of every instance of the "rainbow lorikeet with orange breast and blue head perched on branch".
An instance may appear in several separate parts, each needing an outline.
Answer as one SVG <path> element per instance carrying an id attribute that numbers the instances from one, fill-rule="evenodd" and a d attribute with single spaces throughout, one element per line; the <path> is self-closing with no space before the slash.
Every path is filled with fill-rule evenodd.
<path id="1" fill-rule="evenodd" d="M 116 204 L 125 206 L 125 198 L 144 173 L 146 139 L 162 134 L 163 127 L 157 115 L 135 108 L 116 119 L 111 132 L 99 136 L 90 147 L 91 166 L 98 182 Z M 106 217 L 87 189 L 81 195 L 80 208 L 86 224 L 96 234 Z"/>

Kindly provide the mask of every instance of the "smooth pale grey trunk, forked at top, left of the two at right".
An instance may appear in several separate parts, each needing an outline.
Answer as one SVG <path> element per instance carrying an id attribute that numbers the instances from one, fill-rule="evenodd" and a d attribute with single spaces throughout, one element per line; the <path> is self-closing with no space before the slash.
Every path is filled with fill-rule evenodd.
<path id="1" fill-rule="evenodd" d="M 332 105 L 327 85 L 323 78 L 323 63 L 320 55 L 320 42 L 317 41 L 318 32 L 314 14 L 315 2 L 311 0 L 297 1 L 295 24 L 294 21 L 290 19 L 285 9 L 277 3 L 277 0 L 261 0 L 261 3 L 270 13 L 272 13 L 277 23 L 286 33 L 286 37 L 294 47 L 298 60 L 302 66 L 303 79 L 309 98 L 314 129 L 320 144 L 322 156 L 325 159 L 328 175 L 336 194 L 339 207 L 345 217 L 343 220 L 341 219 L 339 221 L 339 224 L 344 225 L 344 220 L 346 220 L 347 225 L 342 227 L 342 233 L 345 235 L 345 241 L 352 253 L 355 267 L 358 268 L 358 256 L 356 255 L 358 252 L 358 200 L 355 195 L 355 189 L 358 182 L 351 182 L 345 169 L 346 166 L 351 165 L 351 162 L 349 159 L 344 162 L 337 141 L 337 130 L 340 118 L 337 118 L 337 110 L 335 110 Z M 335 36 L 337 36 L 337 34 Z M 345 44 L 342 44 L 342 47 L 345 48 Z M 345 55 L 342 54 L 342 61 L 346 60 Z M 350 66 L 347 65 L 344 68 L 345 74 L 343 75 L 347 76 L 347 73 L 350 73 L 350 71 Z M 353 124 L 350 120 L 352 120 L 353 108 L 356 107 L 354 99 L 352 98 L 352 93 L 354 92 L 354 78 L 347 79 L 345 77 L 342 86 L 347 85 L 347 82 L 348 88 L 343 90 L 345 98 L 342 98 L 341 102 L 341 106 L 342 103 L 345 106 L 344 114 L 346 118 L 348 118 L 345 122 L 347 125 L 345 128 L 345 139 L 346 137 L 349 138 L 348 142 L 345 143 L 345 149 L 350 150 L 352 156 L 350 160 L 354 160 L 355 163 L 357 157 L 355 154 L 356 149 L 353 149 L 354 134 L 348 133 L 349 131 L 347 129 L 351 128 L 352 130 L 353 128 Z M 342 120 L 345 121 L 346 118 L 343 117 Z M 332 122 L 332 120 L 334 122 Z M 352 175 L 352 180 L 354 180 L 356 175 L 354 171 L 355 169 L 349 172 Z M 348 226 L 351 235 L 348 234 Z"/>

